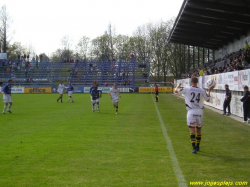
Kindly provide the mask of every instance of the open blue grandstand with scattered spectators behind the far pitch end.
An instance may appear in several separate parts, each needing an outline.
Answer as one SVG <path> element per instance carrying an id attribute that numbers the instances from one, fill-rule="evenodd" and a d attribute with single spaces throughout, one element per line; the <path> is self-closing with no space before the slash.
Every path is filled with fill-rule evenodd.
<path id="1" fill-rule="evenodd" d="M 97 81 L 100 86 L 111 86 L 116 82 L 119 87 L 147 86 L 150 84 L 150 58 L 138 62 L 136 55 L 127 59 L 108 59 L 102 61 L 73 60 L 71 62 L 29 62 L 19 59 L 16 62 L 1 60 L 0 81 L 13 79 L 16 86 L 57 87 L 71 81 L 75 86 L 90 86 Z"/>

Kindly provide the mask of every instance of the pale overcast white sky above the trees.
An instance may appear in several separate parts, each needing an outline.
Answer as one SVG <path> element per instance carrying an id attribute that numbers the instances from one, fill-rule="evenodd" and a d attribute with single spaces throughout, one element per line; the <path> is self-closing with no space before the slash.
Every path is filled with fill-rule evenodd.
<path id="1" fill-rule="evenodd" d="M 62 48 L 68 35 L 72 48 L 82 36 L 94 39 L 108 25 L 132 36 L 138 26 L 177 17 L 183 0 L 0 0 L 13 23 L 12 42 L 33 46 L 37 54 Z"/>

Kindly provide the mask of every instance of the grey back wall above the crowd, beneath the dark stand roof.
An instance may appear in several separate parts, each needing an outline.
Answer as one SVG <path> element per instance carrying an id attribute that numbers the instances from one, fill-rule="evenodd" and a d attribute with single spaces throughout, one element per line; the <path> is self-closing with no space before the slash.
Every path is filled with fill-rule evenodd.
<path id="1" fill-rule="evenodd" d="M 216 50 L 214 53 L 215 59 L 219 59 L 224 57 L 226 54 L 239 51 L 240 49 L 245 47 L 246 41 L 248 42 L 248 44 L 250 44 L 250 32 L 247 33 L 247 36 L 241 36 L 239 40 L 235 39 L 233 43 L 229 43 L 219 50 Z"/>

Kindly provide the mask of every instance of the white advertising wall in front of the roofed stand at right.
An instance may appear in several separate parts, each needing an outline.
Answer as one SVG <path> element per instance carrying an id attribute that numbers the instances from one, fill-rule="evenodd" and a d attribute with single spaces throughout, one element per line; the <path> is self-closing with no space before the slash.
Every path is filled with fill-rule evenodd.
<path id="1" fill-rule="evenodd" d="M 225 84 L 229 85 L 232 91 L 231 112 L 234 115 L 243 117 L 243 105 L 240 99 L 243 96 L 244 86 L 250 86 L 250 70 L 234 71 L 199 77 L 199 87 L 207 89 L 208 79 L 214 79 L 216 82 L 214 90 L 211 92 L 210 102 L 204 102 L 205 105 L 223 110 L 225 100 Z M 175 80 L 175 85 L 182 83 L 183 87 L 190 86 L 190 78 Z"/>

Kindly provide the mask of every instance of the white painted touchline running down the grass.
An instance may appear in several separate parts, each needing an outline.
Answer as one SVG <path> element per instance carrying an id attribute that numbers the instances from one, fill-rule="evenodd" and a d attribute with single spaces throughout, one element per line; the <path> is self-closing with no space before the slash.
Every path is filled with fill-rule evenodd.
<path id="1" fill-rule="evenodd" d="M 175 177 L 177 179 L 178 185 L 179 185 L 179 187 L 187 187 L 185 177 L 182 174 L 181 168 L 179 166 L 179 162 L 178 162 L 178 160 L 176 158 L 176 155 L 175 155 L 175 152 L 174 152 L 174 148 L 173 148 L 171 140 L 170 140 L 170 138 L 168 136 L 167 129 L 166 129 L 166 127 L 164 125 L 164 122 L 163 122 L 163 120 L 161 118 L 161 114 L 160 114 L 160 112 L 158 110 L 156 102 L 154 101 L 154 97 L 153 97 L 152 94 L 151 94 L 151 96 L 152 96 L 153 102 L 155 104 L 155 108 L 156 108 L 156 112 L 158 114 L 159 121 L 161 122 L 161 129 L 162 129 L 163 135 L 164 135 L 166 143 L 167 143 L 170 158 L 171 158 L 171 161 L 173 163 L 174 174 L 175 174 Z"/>

